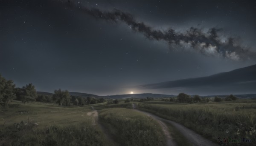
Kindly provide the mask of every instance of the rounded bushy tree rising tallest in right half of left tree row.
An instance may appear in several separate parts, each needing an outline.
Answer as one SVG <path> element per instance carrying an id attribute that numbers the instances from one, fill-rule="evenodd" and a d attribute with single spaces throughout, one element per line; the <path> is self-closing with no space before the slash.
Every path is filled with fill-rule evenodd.
<path id="1" fill-rule="evenodd" d="M 66 106 L 70 104 L 70 94 L 67 90 L 61 91 L 61 89 L 55 90 L 52 95 L 52 99 L 55 100 L 58 105 L 62 105 L 62 103 L 66 103 Z"/>

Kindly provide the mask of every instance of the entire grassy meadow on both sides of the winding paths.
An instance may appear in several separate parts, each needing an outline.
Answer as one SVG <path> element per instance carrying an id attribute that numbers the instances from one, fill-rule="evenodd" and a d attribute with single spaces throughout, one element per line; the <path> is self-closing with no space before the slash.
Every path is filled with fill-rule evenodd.
<path id="1" fill-rule="evenodd" d="M 166 137 L 159 123 L 136 112 L 134 107 L 181 123 L 215 143 L 219 137 L 251 140 L 251 143 L 239 143 L 243 146 L 256 143 L 256 100 L 193 104 L 120 101 L 118 104 L 58 106 L 42 102 L 24 104 L 14 100 L 8 109 L 0 110 L 0 145 L 165 145 Z M 99 118 L 92 109 L 98 110 Z M 174 126 L 169 124 L 168 128 L 178 145 L 189 143 Z"/>

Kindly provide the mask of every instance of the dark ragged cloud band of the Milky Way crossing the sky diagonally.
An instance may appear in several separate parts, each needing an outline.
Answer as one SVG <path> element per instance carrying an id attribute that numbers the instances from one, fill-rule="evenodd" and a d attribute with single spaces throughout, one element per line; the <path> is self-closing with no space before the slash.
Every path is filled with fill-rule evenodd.
<path id="1" fill-rule="evenodd" d="M 70 6 L 75 6 L 69 1 Z M 113 11 L 102 11 L 96 8 L 87 8 L 76 5 L 79 10 L 97 19 L 108 20 L 114 23 L 124 22 L 133 31 L 142 33 L 150 40 L 163 40 L 167 42 L 170 49 L 188 47 L 207 56 L 221 56 L 231 60 L 248 60 L 256 58 L 256 52 L 251 52 L 250 48 L 244 47 L 235 41 L 233 37 L 221 38 L 218 35 L 222 29 L 211 28 L 207 32 L 201 29 L 190 27 L 181 33 L 174 29 L 166 31 L 157 30 L 143 22 L 137 22 L 132 14 L 114 9 Z M 177 47 L 179 46 L 179 47 Z"/>

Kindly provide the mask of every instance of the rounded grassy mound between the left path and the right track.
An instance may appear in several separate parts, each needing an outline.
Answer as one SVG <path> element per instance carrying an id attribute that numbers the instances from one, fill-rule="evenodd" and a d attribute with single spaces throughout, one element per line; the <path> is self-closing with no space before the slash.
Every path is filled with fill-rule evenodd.
<path id="1" fill-rule="evenodd" d="M 99 118 L 120 145 L 163 146 L 166 143 L 157 121 L 132 109 L 103 109 Z"/>

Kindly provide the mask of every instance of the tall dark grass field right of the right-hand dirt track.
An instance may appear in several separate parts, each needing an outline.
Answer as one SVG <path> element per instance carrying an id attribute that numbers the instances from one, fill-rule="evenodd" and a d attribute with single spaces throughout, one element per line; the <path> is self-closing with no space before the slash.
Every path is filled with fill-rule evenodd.
<path id="1" fill-rule="evenodd" d="M 256 143 L 256 104 L 159 105 L 140 103 L 139 109 L 174 120 L 205 137 L 247 138 Z"/>

